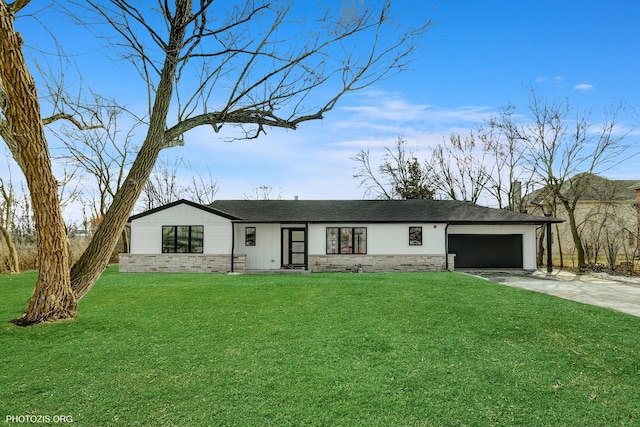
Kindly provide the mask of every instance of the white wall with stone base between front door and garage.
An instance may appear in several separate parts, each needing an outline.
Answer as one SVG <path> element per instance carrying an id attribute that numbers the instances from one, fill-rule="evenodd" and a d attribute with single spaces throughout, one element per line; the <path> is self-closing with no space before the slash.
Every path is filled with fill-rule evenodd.
<path id="1" fill-rule="evenodd" d="M 337 255 L 326 253 L 327 227 L 365 227 L 367 253 Z M 422 245 L 409 245 L 409 227 L 422 227 Z M 309 269 L 313 271 L 441 271 L 445 258 L 445 224 L 310 224 Z M 449 265 L 450 269 L 453 264 Z"/>

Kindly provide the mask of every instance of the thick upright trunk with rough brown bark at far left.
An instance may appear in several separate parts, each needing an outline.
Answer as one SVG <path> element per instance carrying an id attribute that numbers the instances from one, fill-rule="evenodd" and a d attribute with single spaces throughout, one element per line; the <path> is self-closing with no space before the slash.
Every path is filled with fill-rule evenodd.
<path id="1" fill-rule="evenodd" d="M 29 187 L 36 237 L 39 275 L 18 325 L 73 319 L 77 300 L 71 290 L 67 235 L 53 176 L 49 148 L 40 116 L 35 82 L 22 54 L 22 37 L 13 27 L 13 14 L 0 2 L 0 79 L 6 93 L 3 112 L 17 147 L 14 155 Z"/>

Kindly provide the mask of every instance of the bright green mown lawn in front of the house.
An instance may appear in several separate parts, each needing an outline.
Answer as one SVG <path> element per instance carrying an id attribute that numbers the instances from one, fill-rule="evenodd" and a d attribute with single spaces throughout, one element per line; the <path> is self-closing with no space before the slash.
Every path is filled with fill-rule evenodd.
<path id="1" fill-rule="evenodd" d="M 640 318 L 462 274 L 111 267 L 76 321 L 16 327 L 34 283 L 0 276 L 7 425 L 640 424 Z"/>

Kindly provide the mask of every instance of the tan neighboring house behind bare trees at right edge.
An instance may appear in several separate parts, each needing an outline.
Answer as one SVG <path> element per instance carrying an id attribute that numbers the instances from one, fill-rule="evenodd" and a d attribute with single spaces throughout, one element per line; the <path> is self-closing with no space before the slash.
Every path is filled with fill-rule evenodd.
<path id="1" fill-rule="evenodd" d="M 638 180 L 610 180 L 597 175 L 579 174 L 574 178 L 577 186 L 581 179 L 588 184 L 576 205 L 576 224 L 585 246 L 587 262 L 610 263 L 616 254 L 618 261 L 628 261 L 637 255 L 637 235 L 640 213 L 640 182 Z M 566 186 L 568 188 L 568 185 Z M 568 190 L 563 190 L 568 191 Z M 557 218 L 568 220 L 567 213 L 557 202 L 555 210 L 548 190 L 537 190 L 524 198 L 526 210 L 542 215 L 543 210 Z M 568 221 L 558 224 L 554 233 L 554 252 L 575 253 L 575 245 Z M 597 258 L 597 259 L 596 259 Z"/>

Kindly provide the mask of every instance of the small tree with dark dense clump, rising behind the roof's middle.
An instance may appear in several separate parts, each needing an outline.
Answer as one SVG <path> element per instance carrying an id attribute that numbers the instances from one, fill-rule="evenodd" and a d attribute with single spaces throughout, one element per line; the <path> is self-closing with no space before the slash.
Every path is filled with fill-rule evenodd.
<path id="1" fill-rule="evenodd" d="M 407 152 L 406 141 L 398 137 L 393 148 L 384 147 L 382 163 L 371 166 L 371 154 L 361 150 L 352 160 L 359 163 L 353 176 L 360 180 L 365 197 L 379 199 L 432 199 L 429 173 L 420 165 L 415 153 Z"/>

